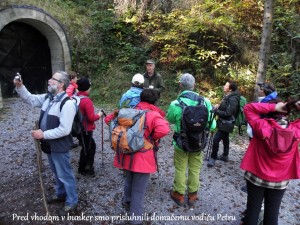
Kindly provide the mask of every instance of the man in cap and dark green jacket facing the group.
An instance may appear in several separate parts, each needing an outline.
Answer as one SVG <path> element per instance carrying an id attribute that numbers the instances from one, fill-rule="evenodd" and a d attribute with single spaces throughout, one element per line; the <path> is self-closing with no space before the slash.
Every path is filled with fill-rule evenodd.
<path id="1" fill-rule="evenodd" d="M 154 60 L 148 59 L 146 61 L 146 69 L 147 71 L 144 73 L 144 88 L 154 89 L 160 96 L 161 92 L 163 92 L 166 88 L 161 75 L 155 70 Z"/>

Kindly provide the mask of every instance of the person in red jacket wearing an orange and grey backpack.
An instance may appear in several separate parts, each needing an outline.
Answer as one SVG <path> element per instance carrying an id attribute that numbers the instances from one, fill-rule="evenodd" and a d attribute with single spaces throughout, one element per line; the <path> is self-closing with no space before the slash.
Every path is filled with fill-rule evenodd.
<path id="1" fill-rule="evenodd" d="M 144 138 L 148 139 L 152 134 L 152 139 L 156 143 L 170 132 L 169 124 L 164 119 L 165 113 L 154 105 L 157 99 L 158 95 L 154 90 L 145 89 L 141 93 L 141 102 L 136 106 L 136 109 L 149 110 L 146 112 Z M 113 114 L 110 114 L 105 122 L 108 124 L 112 119 Z M 138 217 L 144 213 L 144 198 L 149 177 L 151 173 L 157 171 L 155 152 L 153 149 L 136 152 L 133 157 L 120 153 L 119 158 L 121 160 L 118 160 L 116 154 L 114 166 L 124 169 L 126 174 L 122 205 L 130 211 L 131 216 L 137 216 L 130 221 L 131 224 L 142 224 L 142 220 Z"/>

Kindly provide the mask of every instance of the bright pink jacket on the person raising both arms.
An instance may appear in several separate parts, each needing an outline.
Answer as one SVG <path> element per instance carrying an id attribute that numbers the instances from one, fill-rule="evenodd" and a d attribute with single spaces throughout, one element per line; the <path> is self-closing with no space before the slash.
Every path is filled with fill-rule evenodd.
<path id="1" fill-rule="evenodd" d="M 274 119 L 262 119 L 260 115 L 275 111 L 275 104 L 251 103 L 244 107 L 246 119 L 253 129 L 254 137 L 241 162 L 241 168 L 269 182 L 281 182 L 300 178 L 300 153 L 294 142 L 288 153 L 274 153 L 268 149 L 264 137 L 269 137 L 272 127 L 281 126 Z M 287 128 L 300 138 L 300 119 L 291 122 Z"/>

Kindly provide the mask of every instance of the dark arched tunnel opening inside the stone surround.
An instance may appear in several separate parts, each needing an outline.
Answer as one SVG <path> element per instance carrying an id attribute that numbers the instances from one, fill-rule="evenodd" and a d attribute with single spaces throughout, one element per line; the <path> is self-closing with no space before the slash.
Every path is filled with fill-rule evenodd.
<path id="1" fill-rule="evenodd" d="M 0 31 L 0 80 L 2 97 L 15 95 L 13 79 L 22 75 L 27 89 L 44 93 L 51 78 L 51 54 L 48 40 L 34 27 L 12 22 Z"/>

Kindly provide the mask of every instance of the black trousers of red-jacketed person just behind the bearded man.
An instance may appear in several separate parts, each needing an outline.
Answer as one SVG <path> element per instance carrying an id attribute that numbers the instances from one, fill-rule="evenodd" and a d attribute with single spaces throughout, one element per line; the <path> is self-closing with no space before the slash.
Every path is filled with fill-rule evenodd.
<path id="1" fill-rule="evenodd" d="M 83 143 L 79 159 L 80 170 L 85 170 L 86 166 L 89 166 L 90 168 L 94 166 L 95 153 L 96 143 L 93 138 L 93 131 L 83 131 Z"/>

